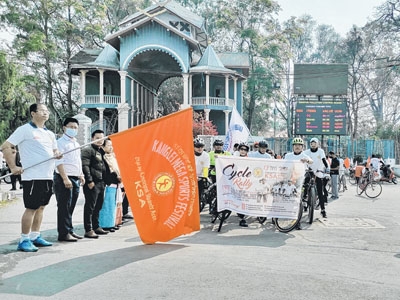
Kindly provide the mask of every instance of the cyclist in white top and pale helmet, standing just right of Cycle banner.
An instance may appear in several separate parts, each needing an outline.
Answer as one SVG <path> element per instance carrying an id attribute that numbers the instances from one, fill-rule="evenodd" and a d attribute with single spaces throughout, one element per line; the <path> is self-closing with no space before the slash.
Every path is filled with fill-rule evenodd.
<path id="1" fill-rule="evenodd" d="M 325 198 L 323 193 L 324 166 L 327 173 L 330 172 L 330 170 L 329 165 L 326 161 L 325 151 L 318 146 L 319 140 L 314 137 L 310 140 L 310 149 L 307 149 L 304 152 L 313 160 L 313 163 L 309 166 L 315 174 L 315 183 L 317 186 L 319 205 L 321 207 L 321 215 L 323 218 L 326 218 L 325 202 L 327 202 L 328 200 Z"/>

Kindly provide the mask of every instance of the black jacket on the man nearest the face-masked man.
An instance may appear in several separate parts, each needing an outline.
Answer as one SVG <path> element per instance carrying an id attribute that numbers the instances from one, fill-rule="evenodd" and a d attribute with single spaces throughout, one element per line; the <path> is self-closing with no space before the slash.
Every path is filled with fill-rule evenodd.
<path id="1" fill-rule="evenodd" d="M 106 167 L 103 160 L 103 155 L 103 149 L 94 144 L 82 149 L 82 171 L 85 175 L 86 184 L 104 181 Z"/>

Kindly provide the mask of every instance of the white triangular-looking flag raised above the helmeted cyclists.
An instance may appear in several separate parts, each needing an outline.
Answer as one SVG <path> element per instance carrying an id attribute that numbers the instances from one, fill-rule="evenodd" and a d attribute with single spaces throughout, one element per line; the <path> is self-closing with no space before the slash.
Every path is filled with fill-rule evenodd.
<path id="1" fill-rule="evenodd" d="M 232 151 L 233 145 L 236 143 L 247 142 L 249 138 L 250 130 L 247 128 L 239 112 L 234 107 L 232 109 L 231 121 L 229 122 L 228 134 L 225 138 L 224 150 Z"/>

